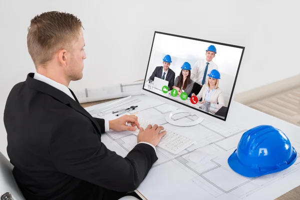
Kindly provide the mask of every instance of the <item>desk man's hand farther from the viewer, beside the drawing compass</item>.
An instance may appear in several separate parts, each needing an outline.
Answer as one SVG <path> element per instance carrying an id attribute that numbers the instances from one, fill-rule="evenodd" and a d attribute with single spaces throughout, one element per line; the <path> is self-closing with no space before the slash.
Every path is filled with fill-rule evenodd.
<path id="1" fill-rule="evenodd" d="M 131 126 L 127 126 L 127 123 L 130 123 Z M 137 121 L 137 116 L 135 115 L 123 115 L 116 119 L 109 120 L 109 129 L 115 130 L 115 131 L 123 131 L 123 130 L 130 130 L 134 131 L 137 128 L 139 128 L 139 123 Z"/>

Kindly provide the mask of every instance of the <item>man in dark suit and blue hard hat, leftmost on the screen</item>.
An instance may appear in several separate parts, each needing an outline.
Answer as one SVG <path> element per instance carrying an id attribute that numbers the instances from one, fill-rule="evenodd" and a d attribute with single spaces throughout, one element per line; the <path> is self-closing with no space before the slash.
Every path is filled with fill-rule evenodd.
<path id="1" fill-rule="evenodd" d="M 156 66 L 152 75 L 149 77 L 150 80 L 154 80 L 154 77 L 168 81 L 168 89 L 171 90 L 174 85 L 175 72 L 169 68 L 172 60 L 170 55 L 165 55 L 162 59 L 162 66 Z"/>

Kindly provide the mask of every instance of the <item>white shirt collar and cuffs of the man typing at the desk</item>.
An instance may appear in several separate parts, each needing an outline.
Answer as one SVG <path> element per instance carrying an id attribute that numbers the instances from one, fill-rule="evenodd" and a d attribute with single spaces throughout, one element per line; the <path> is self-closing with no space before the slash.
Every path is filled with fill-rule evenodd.
<path id="1" fill-rule="evenodd" d="M 72 95 L 71 91 L 68 89 L 67 86 L 65 86 L 65 85 L 63 85 L 63 84 L 61 84 L 61 83 L 59 83 L 59 82 L 56 82 L 56 81 L 54 81 L 54 80 L 52 80 L 52 79 L 50 79 L 50 78 L 48 78 L 48 77 L 46 77 L 46 76 L 44 76 L 44 75 L 41 75 L 41 74 L 39 74 L 39 73 L 37 73 L 37 72 L 34 73 L 33 78 L 36 79 L 36 80 L 40 80 L 40 81 L 42 81 L 42 82 L 45 82 L 45 83 L 47 83 L 47 84 L 49 84 L 49 85 L 55 87 L 56 89 L 59 89 L 60 91 L 63 91 L 63 92 L 66 93 L 68 96 L 70 96 L 73 100 L 75 100 L 74 96 Z M 76 100 L 75 100 L 75 101 L 76 101 Z M 105 119 L 104 119 L 104 124 L 105 124 L 105 132 L 108 132 L 108 131 L 109 131 L 109 120 L 105 120 Z M 150 144 L 150 143 L 148 143 L 148 142 L 143 142 L 143 141 L 138 142 L 138 143 L 146 143 L 146 144 L 149 144 L 149 145 L 151 145 L 151 146 L 154 148 L 154 150 L 155 150 L 155 152 L 156 152 L 156 148 L 155 148 L 155 146 L 154 146 L 153 144 Z"/>

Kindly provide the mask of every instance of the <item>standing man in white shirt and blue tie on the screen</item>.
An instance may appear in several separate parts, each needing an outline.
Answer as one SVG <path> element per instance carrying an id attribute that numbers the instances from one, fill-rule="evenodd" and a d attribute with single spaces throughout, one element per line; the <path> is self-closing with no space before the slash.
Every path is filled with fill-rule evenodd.
<path id="1" fill-rule="evenodd" d="M 212 69 L 216 69 L 217 65 L 212 61 L 216 54 L 216 48 L 214 45 L 207 47 L 205 52 L 205 59 L 199 59 L 196 61 L 190 71 L 190 79 L 194 81 L 193 87 L 190 94 L 194 93 L 197 95 L 201 90 L 202 86 L 207 83 L 207 73 Z M 190 96 L 189 94 L 189 96 Z"/>

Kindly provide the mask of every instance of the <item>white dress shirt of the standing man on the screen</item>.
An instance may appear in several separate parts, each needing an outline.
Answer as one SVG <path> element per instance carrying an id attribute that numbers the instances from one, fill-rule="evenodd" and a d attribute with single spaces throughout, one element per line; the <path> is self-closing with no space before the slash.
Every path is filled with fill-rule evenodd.
<path id="1" fill-rule="evenodd" d="M 205 71 L 205 67 L 206 67 L 206 59 L 199 59 L 196 61 L 196 63 L 194 64 L 194 66 L 191 68 L 190 70 L 190 79 L 195 81 L 196 83 L 202 85 L 202 80 L 203 80 L 203 75 L 204 75 L 204 71 Z M 208 73 L 212 70 L 212 69 L 216 69 L 217 65 L 211 60 L 210 62 L 208 62 L 208 67 L 207 67 L 207 72 L 206 72 L 206 78 L 205 78 L 205 82 L 204 84 L 207 84 L 207 80 L 208 80 Z"/>

